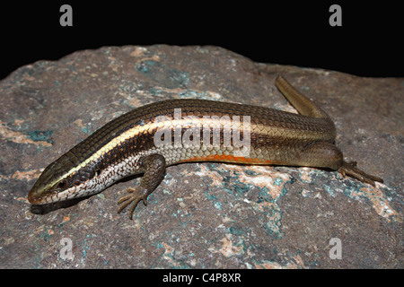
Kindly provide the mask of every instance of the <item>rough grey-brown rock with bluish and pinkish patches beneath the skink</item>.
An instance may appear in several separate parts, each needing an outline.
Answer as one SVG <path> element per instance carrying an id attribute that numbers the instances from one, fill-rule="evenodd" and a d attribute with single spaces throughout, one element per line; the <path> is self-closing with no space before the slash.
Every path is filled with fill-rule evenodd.
<path id="1" fill-rule="evenodd" d="M 385 184 L 329 170 L 189 163 L 167 169 L 133 221 L 117 214 L 117 201 L 138 177 L 44 214 L 28 204 L 48 163 L 147 103 L 294 111 L 275 88 L 279 74 L 333 118 L 346 158 Z M 403 267 L 402 78 L 258 64 L 216 47 L 127 46 L 22 66 L 0 94 L 1 268 Z M 60 257 L 62 239 L 73 260 Z M 338 242 L 342 259 L 332 259 Z"/>

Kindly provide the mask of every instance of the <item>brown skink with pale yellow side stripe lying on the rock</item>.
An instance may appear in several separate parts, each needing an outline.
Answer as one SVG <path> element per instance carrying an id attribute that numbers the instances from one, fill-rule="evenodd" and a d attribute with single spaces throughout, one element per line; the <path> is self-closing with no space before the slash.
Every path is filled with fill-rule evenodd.
<path id="1" fill-rule="evenodd" d="M 167 166 L 195 161 L 288 165 L 338 170 L 375 185 L 382 178 L 344 161 L 329 116 L 283 77 L 276 85 L 300 114 L 212 100 L 162 100 L 133 109 L 102 126 L 43 170 L 31 204 L 89 196 L 130 175 L 140 185 L 119 199 L 119 213 L 147 204 Z M 242 143 L 242 144 L 240 144 Z"/>

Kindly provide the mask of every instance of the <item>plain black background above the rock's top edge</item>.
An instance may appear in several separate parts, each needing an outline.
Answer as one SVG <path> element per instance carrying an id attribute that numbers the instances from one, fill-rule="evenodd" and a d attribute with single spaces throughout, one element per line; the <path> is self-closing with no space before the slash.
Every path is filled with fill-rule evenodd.
<path id="1" fill-rule="evenodd" d="M 59 24 L 62 4 L 73 8 L 73 27 Z M 331 4 L 342 8 L 342 27 L 329 26 Z M 0 9 L 0 79 L 81 49 L 153 44 L 215 45 L 262 63 L 404 76 L 397 2 L 32 1 Z"/>

